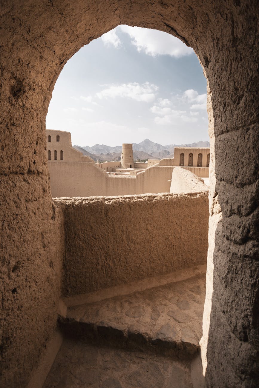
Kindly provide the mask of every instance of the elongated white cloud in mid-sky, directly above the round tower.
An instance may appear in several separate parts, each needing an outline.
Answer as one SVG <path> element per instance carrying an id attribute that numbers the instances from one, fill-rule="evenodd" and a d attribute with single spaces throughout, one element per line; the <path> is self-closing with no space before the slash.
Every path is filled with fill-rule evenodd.
<path id="1" fill-rule="evenodd" d="M 145 82 L 142 85 L 137 82 L 110 85 L 108 88 L 96 93 L 99 99 L 126 97 L 136 101 L 151 102 L 155 99 L 158 87 L 153 83 Z"/>

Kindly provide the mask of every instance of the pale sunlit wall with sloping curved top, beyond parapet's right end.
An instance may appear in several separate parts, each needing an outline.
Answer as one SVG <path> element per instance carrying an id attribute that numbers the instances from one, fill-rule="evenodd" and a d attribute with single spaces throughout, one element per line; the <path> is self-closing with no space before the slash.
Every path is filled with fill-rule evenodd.
<path id="1" fill-rule="evenodd" d="M 170 185 L 171 193 L 177 194 L 203 191 L 209 191 L 209 187 L 204 184 L 204 181 L 200 177 L 197 177 L 197 175 L 182 167 L 174 167 Z"/>

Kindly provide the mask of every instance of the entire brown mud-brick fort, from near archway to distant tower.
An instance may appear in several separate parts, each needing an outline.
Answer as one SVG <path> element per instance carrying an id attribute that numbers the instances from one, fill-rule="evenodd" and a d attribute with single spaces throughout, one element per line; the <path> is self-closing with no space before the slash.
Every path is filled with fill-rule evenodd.
<path id="1" fill-rule="evenodd" d="M 258 3 L 4 0 L 0 18 L 0 386 L 257 387 Z M 209 151 L 143 166 L 126 144 L 97 166 L 46 141 L 64 65 L 118 24 L 194 49 Z"/>

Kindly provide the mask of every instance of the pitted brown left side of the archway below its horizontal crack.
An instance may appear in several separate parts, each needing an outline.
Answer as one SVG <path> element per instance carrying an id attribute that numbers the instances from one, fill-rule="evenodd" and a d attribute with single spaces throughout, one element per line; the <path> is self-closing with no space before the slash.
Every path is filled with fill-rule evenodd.
<path id="1" fill-rule="evenodd" d="M 38 182 L 38 185 L 36 184 Z M 1 178 L 1 367 L 0 386 L 28 381 L 57 324 L 61 290 L 63 215 L 42 175 Z M 20 368 L 22 367 L 22 370 Z"/>

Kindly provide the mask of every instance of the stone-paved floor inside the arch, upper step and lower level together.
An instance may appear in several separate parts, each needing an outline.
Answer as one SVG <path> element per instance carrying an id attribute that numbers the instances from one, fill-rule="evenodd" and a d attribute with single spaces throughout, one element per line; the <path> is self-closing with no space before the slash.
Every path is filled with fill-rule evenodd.
<path id="1" fill-rule="evenodd" d="M 203 387 L 200 364 L 192 366 L 205 300 L 205 273 L 197 273 L 72 303 L 60 317 L 65 340 L 44 387 Z"/>

